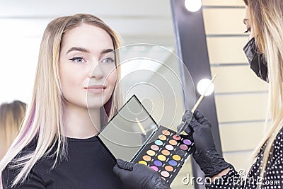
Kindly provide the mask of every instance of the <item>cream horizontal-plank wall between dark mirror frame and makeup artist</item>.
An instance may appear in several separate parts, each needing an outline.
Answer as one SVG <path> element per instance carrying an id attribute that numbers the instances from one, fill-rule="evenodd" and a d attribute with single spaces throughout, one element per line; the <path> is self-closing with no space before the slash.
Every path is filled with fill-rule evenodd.
<path id="1" fill-rule="evenodd" d="M 248 37 L 212 37 L 211 35 L 243 35 L 246 29 L 242 23 L 245 8 L 242 0 L 202 0 L 203 6 L 235 6 L 236 8 L 203 9 L 204 27 L 207 37 L 209 60 L 214 64 L 247 63 L 243 46 Z M 238 8 L 237 8 L 238 6 Z M 210 36 L 209 36 L 210 35 Z M 267 84 L 255 76 L 249 66 L 212 67 L 212 75 L 217 74 L 215 84 L 216 110 L 224 158 L 237 170 L 251 166 L 252 151 L 263 136 L 264 122 L 242 122 L 265 120 Z M 223 94 L 217 93 L 238 93 Z M 222 122 L 222 123 L 221 123 Z M 238 122 L 224 124 L 223 122 Z M 251 137 L 252 136 L 252 137 Z M 233 152 L 231 152 L 233 151 Z"/>

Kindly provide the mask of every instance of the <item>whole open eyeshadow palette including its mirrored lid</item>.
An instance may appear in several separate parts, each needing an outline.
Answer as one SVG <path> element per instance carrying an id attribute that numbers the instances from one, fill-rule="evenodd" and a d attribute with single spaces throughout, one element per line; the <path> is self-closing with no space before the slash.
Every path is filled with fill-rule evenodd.
<path id="1" fill-rule="evenodd" d="M 187 135 L 158 126 L 135 95 L 101 128 L 98 139 L 113 159 L 149 166 L 169 184 L 194 149 Z"/>

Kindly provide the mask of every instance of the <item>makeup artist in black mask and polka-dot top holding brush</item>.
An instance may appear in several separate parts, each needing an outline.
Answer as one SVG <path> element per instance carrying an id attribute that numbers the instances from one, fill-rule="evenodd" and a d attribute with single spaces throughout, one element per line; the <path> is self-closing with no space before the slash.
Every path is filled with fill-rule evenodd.
<path id="1" fill-rule="evenodd" d="M 195 140 L 195 161 L 209 178 L 207 188 L 283 188 L 283 1 L 244 0 L 243 22 L 250 39 L 244 52 L 250 68 L 269 83 L 269 113 L 272 127 L 255 151 L 255 162 L 247 178 L 216 151 L 209 121 L 200 111 L 183 116 L 185 132 Z M 215 178 L 215 180 L 214 180 Z M 246 180 L 245 180 L 246 179 Z"/>

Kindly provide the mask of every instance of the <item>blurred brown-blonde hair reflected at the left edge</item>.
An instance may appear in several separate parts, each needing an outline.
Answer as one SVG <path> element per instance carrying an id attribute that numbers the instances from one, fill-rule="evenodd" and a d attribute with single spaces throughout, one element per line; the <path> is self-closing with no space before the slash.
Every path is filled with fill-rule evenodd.
<path id="1" fill-rule="evenodd" d="M 25 118 L 26 104 L 21 101 L 0 105 L 0 159 L 8 151 Z"/>

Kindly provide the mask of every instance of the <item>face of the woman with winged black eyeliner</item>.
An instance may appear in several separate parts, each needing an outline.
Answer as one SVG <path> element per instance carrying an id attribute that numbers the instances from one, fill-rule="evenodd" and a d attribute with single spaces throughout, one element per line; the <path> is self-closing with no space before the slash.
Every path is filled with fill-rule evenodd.
<path id="1" fill-rule="evenodd" d="M 69 105 L 102 107 L 117 81 L 110 35 L 85 23 L 65 33 L 59 53 L 59 75 Z"/>

